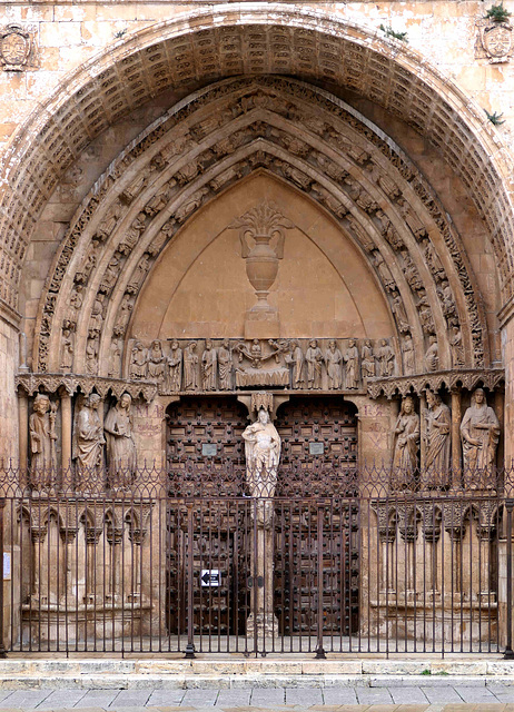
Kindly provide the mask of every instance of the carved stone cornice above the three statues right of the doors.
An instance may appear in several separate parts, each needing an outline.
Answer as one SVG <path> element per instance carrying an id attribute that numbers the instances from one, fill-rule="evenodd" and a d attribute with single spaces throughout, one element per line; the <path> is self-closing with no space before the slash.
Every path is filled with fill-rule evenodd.
<path id="1" fill-rule="evenodd" d="M 465 388 L 474 390 L 477 386 L 484 386 L 495 390 L 505 380 L 503 368 L 444 370 L 436 374 L 423 374 L 419 376 L 403 376 L 399 378 L 373 378 L 367 383 L 367 392 L 372 398 L 386 396 L 389 400 L 395 396 L 406 396 L 415 393 L 421 396 L 426 390 L 438 393 L 442 388 L 454 390 Z"/>

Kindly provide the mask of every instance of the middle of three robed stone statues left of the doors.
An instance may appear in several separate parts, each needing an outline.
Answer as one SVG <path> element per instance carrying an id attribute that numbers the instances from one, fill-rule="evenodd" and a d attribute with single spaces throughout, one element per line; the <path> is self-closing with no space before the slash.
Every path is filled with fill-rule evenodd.
<path id="1" fill-rule="evenodd" d="M 93 474 L 102 465 L 103 427 L 98 408 L 101 398 L 97 393 L 86 398 L 79 411 L 73 428 L 73 459 L 77 461 L 77 479 L 80 481 L 86 475 Z"/>

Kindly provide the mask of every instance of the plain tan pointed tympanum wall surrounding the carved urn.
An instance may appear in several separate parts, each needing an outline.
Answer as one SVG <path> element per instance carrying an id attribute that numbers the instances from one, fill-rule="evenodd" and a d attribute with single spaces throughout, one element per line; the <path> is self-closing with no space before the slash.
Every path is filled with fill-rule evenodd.
<path id="1" fill-rule="evenodd" d="M 256 301 L 239 229 L 228 227 L 268 200 L 294 227 L 268 297 L 283 338 L 391 338 L 385 298 L 364 255 L 333 219 L 295 189 L 253 174 L 201 209 L 174 238 L 136 305 L 129 338 L 249 336 Z M 275 337 L 276 334 L 256 334 Z"/>

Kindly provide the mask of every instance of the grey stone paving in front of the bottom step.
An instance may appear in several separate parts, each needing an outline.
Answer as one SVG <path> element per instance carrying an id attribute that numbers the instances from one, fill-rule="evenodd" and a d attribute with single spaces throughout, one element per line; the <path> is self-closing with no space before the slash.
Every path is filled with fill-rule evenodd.
<path id="1" fill-rule="evenodd" d="M 0 692 L 0 712 L 71 709 L 80 712 L 514 712 L 514 685 Z"/>

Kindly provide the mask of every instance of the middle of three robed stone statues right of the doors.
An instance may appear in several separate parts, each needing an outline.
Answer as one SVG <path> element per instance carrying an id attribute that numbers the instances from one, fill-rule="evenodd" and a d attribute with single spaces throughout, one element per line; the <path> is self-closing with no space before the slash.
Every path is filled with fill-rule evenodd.
<path id="1" fill-rule="evenodd" d="M 426 487 L 445 487 L 449 484 L 449 453 L 452 416 L 441 396 L 426 392 L 425 466 L 421 484 Z"/>

